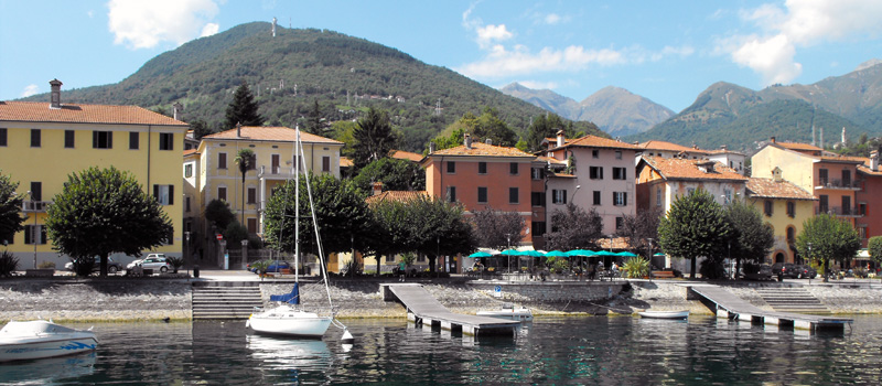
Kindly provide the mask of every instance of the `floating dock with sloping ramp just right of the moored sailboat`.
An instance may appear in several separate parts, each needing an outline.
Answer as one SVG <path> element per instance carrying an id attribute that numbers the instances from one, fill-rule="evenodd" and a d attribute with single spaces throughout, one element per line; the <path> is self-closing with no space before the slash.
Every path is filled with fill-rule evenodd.
<path id="1" fill-rule="evenodd" d="M 474 336 L 514 336 L 520 326 L 518 321 L 451 312 L 419 283 L 384 283 L 380 293 L 383 300 L 401 301 L 407 309 L 407 319 L 417 325 L 438 326 Z"/>

